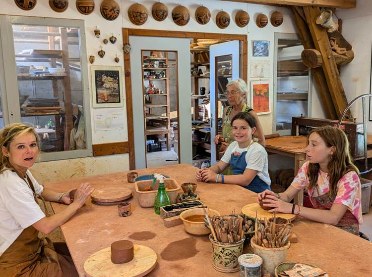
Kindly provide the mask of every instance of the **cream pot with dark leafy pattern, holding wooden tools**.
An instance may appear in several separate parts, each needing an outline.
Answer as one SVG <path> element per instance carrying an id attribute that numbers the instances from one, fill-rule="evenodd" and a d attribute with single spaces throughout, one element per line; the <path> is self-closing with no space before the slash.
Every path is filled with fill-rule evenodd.
<path id="1" fill-rule="evenodd" d="M 212 242 L 213 268 L 220 272 L 237 272 L 240 269 L 238 258 L 243 254 L 243 243 L 245 236 L 237 242 L 220 242 L 213 239 L 212 234 L 209 240 Z"/>

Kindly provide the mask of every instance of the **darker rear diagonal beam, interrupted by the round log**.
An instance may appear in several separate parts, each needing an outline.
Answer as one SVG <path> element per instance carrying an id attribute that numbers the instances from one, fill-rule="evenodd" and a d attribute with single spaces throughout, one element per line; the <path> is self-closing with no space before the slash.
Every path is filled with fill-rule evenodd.
<path id="1" fill-rule="evenodd" d="M 302 15 L 304 15 L 303 8 L 291 7 L 291 10 L 304 48 L 305 49 L 314 48 L 315 46 L 311 38 L 308 24 L 306 23 L 306 21 L 304 21 L 302 17 Z M 329 93 L 329 89 L 327 87 L 323 70 L 321 68 L 311 68 L 311 74 L 315 81 L 315 86 L 317 92 L 319 93 L 321 102 L 323 104 L 326 117 L 329 119 L 338 119 L 332 98 Z"/>

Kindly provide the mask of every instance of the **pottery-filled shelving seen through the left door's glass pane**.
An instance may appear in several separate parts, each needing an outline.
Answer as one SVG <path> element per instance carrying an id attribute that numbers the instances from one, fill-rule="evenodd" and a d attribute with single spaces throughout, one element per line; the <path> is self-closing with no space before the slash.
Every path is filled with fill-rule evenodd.
<path id="1" fill-rule="evenodd" d="M 171 121 L 168 65 L 167 52 L 164 53 L 164 57 L 142 55 L 146 140 L 151 139 L 154 135 L 165 135 L 166 147 L 169 151 L 171 150 Z"/>

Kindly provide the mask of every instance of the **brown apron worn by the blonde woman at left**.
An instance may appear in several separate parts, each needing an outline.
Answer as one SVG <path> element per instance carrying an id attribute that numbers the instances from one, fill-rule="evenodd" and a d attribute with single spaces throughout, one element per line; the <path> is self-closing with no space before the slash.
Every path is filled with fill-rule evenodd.
<path id="1" fill-rule="evenodd" d="M 27 181 L 36 198 L 38 194 L 35 193 L 34 186 L 28 176 Z M 55 252 L 52 242 L 48 238 L 40 239 L 38 233 L 39 231 L 32 225 L 27 227 L 2 253 L 0 256 L 0 276 L 78 276 L 71 257 Z"/>

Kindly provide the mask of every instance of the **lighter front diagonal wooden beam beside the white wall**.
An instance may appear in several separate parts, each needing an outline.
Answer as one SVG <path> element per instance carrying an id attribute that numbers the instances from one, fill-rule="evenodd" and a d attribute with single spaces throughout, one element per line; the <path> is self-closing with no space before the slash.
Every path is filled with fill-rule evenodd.
<path id="1" fill-rule="evenodd" d="M 337 69 L 337 64 L 329 44 L 327 31 L 315 23 L 316 18 L 320 15 L 319 7 L 306 6 L 304 7 L 304 11 L 315 49 L 320 52 L 323 59 L 322 69 L 338 119 L 348 102 Z M 348 115 L 351 115 L 351 113 L 348 113 Z"/>

